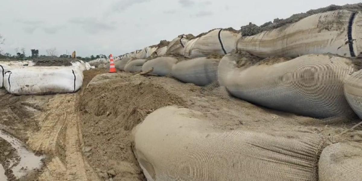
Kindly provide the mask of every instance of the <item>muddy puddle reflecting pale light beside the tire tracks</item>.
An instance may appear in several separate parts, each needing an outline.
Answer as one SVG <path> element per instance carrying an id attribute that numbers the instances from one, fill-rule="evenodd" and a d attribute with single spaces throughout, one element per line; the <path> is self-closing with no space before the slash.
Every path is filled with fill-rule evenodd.
<path id="1" fill-rule="evenodd" d="M 6 140 L 16 150 L 18 158 L 10 160 L 10 168 L 16 178 L 25 176 L 26 173 L 42 166 L 43 156 L 36 156 L 27 150 L 20 140 L 0 130 L 0 137 Z M 5 179 L 3 179 L 3 177 Z M 0 167 L 0 180 L 6 180 L 4 168 Z"/>

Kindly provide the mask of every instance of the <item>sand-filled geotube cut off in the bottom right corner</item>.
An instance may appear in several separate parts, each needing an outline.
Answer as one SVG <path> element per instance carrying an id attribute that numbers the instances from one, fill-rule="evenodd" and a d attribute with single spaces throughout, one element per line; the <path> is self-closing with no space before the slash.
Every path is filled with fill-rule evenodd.
<path id="1" fill-rule="evenodd" d="M 362 181 L 362 144 L 337 143 L 325 148 L 319 160 L 320 181 Z"/>

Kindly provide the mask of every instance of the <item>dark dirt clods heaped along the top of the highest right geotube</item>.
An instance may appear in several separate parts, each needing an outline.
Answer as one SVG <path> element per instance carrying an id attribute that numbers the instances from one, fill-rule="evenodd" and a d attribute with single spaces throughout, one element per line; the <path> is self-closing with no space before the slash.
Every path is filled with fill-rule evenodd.
<path id="1" fill-rule="evenodd" d="M 347 10 L 351 10 L 351 11 L 362 10 L 362 3 L 346 4 L 343 6 L 330 5 L 325 8 L 311 9 L 311 10 L 307 11 L 306 13 L 293 14 L 292 16 L 290 16 L 289 18 L 286 18 L 286 19 L 275 18 L 273 22 L 269 21 L 260 26 L 257 26 L 255 24 L 253 24 L 252 22 L 250 22 L 248 25 L 241 26 L 240 32 L 241 32 L 241 35 L 243 35 L 243 36 L 252 36 L 252 35 L 261 33 L 262 31 L 269 31 L 269 30 L 279 28 L 286 24 L 295 23 L 295 22 L 297 22 L 303 18 L 306 18 L 308 16 L 311 16 L 313 14 L 324 13 L 324 12 L 338 10 L 338 9 L 347 9 Z"/>

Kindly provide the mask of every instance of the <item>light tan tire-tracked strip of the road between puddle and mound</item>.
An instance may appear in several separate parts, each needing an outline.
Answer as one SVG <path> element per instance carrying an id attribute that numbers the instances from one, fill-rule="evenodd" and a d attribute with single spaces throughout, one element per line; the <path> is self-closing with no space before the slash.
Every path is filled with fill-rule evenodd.
<path id="1" fill-rule="evenodd" d="M 83 159 L 80 149 L 79 115 L 75 109 L 77 96 L 57 94 L 49 101 L 46 111 L 34 120 L 39 122 L 40 130 L 29 135 L 28 145 L 51 158 L 38 178 L 41 181 L 99 180 Z M 65 141 L 61 140 L 62 134 Z M 59 144 L 64 144 L 64 147 L 58 148 Z"/>

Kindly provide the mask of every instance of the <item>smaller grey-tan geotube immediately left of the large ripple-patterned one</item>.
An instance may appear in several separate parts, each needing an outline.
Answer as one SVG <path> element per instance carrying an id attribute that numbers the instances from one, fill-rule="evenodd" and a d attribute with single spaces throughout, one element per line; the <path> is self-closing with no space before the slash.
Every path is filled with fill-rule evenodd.
<path id="1" fill-rule="evenodd" d="M 172 76 L 185 83 L 207 85 L 217 81 L 220 59 L 195 58 L 183 60 L 172 67 Z"/>

